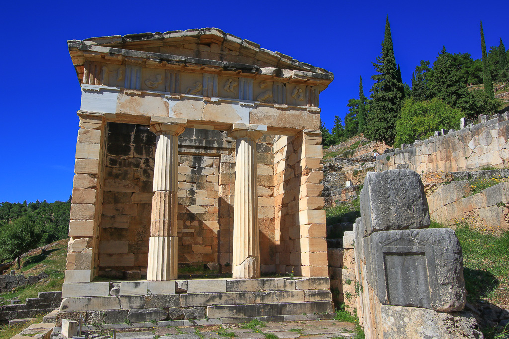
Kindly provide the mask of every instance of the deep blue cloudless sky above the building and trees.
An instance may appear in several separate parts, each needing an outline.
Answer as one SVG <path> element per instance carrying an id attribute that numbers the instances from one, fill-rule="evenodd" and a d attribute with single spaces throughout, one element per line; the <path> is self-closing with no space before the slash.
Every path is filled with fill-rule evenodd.
<path id="1" fill-rule="evenodd" d="M 369 97 L 385 15 L 403 81 L 420 59 L 450 52 L 480 56 L 509 47 L 507 0 L 479 1 L 115 1 L 6 2 L 0 11 L 0 202 L 67 200 L 72 188 L 80 91 L 66 40 L 217 27 L 334 73 L 320 96 L 331 127 L 358 98 Z"/>

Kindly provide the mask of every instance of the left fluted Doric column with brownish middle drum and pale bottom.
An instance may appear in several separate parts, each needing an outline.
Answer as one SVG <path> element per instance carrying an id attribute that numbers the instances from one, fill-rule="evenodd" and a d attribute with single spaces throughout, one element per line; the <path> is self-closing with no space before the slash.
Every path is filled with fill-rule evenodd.
<path id="1" fill-rule="evenodd" d="M 150 130 L 157 135 L 150 217 L 148 281 L 176 280 L 177 187 L 179 134 L 187 119 L 152 117 Z"/>

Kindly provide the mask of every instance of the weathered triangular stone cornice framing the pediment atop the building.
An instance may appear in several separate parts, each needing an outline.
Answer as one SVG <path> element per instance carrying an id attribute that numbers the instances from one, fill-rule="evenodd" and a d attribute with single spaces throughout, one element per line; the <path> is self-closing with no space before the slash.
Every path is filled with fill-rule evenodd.
<path id="1" fill-rule="evenodd" d="M 269 65 L 271 67 L 135 50 L 136 48 L 151 48 L 154 46 L 172 46 L 176 42 L 189 44 L 210 43 L 210 41 L 228 46 L 234 51 L 241 51 L 245 57 L 250 57 L 250 60 L 254 58 L 260 61 L 263 64 L 262 66 Z M 83 41 L 69 40 L 68 47 L 80 82 L 82 65 L 86 60 L 105 61 L 114 64 L 131 63 L 148 68 L 179 69 L 186 72 L 237 75 L 239 77 L 310 86 L 319 85 L 322 90 L 333 80 L 333 74 L 321 68 L 302 63 L 279 52 L 260 48 L 260 45 L 256 43 L 241 40 L 215 28 L 191 29 L 163 34 L 91 38 Z"/>

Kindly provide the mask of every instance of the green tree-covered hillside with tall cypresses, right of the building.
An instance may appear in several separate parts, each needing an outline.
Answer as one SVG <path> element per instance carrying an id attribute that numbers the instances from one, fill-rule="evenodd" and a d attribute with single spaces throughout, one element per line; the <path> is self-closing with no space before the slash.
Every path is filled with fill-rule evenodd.
<path id="1" fill-rule="evenodd" d="M 509 105 L 496 95 L 509 92 L 509 50 L 500 38 L 498 46 L 486 48 L 483 24 L 479 39 L 482 57 L 450 53 L 443 46 L 436 60 L 420 60 L 412 83 L 403 83 L 394 55 L 389 19 L 385 23 L 381 53 L 373 63 L 375 81 L 370 99 L 364 97 L 362 78 L 359 99 L 348 101 L 343 121 L 334 115 L 330 132 L 322 124 L 323 145 L 341 143 L 359 133 L 372 141 L 399 147 L 402 143 L 427 138 L 439 129 L 458 129 L 459 118 L 475 119 L 479 114 L 501 113 Z M 480 85 L 484 84 L 483 88 Z M 497 84 L 497 85 L 494 85 Z M 422 125 L 423 122 L 427 124 Z"/>

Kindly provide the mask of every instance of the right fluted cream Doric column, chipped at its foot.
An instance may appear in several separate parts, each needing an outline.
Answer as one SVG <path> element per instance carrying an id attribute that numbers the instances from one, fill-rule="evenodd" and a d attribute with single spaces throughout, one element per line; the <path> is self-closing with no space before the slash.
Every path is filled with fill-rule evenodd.
<path id="1" fill-rule="evenodd" d="M 256 141 L 264 131 L 267 131 L 265 125 L 235 123 L 229 133 L 237 140 L 233 209 L 234 279 L 260 278 Z"/>

